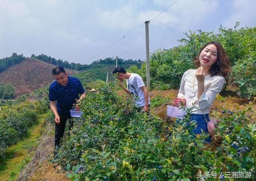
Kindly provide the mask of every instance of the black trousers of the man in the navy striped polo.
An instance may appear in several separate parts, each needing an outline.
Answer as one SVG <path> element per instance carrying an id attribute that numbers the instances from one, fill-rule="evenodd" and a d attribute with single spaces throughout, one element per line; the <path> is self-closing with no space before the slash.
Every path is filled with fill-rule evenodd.
<path id="1" fill-rule="evenodd" d="M 60 124 L 55 123 L 55 143 L 54 143 L 54 150 L 56 148 L 59 148 L 60 146 L 60 140 L 63 138 L 65 126 L 67 119 L 69 120 L 69 130 L 73 127 L 73 122 L 70 120 L 70 112 L 68 113 L 60 113 L 58 112 L 58 115 L 60 116 Z"/>

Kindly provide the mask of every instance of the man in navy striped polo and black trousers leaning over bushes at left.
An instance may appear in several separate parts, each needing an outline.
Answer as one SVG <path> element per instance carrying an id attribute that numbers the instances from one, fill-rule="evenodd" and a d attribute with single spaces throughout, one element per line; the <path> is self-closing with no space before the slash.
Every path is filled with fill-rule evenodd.
<path id="1" fill-rule="evenodd" d="M 50 108 L 55 116 L 55 157 L 60 140 L 63 138 L 67 119 L 69 119 L 69 129 L 73 126 L 70 121 L 70 109 L 77 100 L 85 96 L 85 92 L 79 79 L 68 76 L 63 67 L 52 69 L 52 75 L 55 81 L 49 87 L 49 99 Z"/>

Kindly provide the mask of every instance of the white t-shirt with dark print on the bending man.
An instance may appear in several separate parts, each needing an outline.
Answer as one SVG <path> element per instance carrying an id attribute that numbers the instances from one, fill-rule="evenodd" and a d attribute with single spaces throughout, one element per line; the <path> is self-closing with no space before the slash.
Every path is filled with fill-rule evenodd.
<path id="1" fill-rule="evenodd" d="M 138 106 L 145 106 L 145 98 L 144 92 L 140 87 L 144 86 L 144 82 L 140 75 L 136 73 L 132 73 L 130 78 L 127 79 L 127 89 L 131 94 L 134 95 L 134 101 Z M 148 97 L 148 105 L 150 104 L 150 100 Z"/>

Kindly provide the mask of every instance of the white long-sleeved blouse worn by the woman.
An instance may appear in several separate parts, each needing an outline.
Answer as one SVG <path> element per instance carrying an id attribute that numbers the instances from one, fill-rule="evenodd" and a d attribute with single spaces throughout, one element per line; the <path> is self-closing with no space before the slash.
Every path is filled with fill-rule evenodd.
<path id="1" fill-rule="evenodd" d="M 225 83 L 225 79 L 220 75 L 213 77 L 207 75 L 204 79 L 204 93 L 198 100 L 198 83 L 195 77 L 196 70 L 197 69 L 189 69 L 183 74 L 178 97 L 184 96 L 186 98 L 186 104 L 184 105 L 186 108 L 191 108 L 192 103 L 194 103 L 197 108 L 192 110 L 193 114 L 208 114 L 212 102 Z"/>

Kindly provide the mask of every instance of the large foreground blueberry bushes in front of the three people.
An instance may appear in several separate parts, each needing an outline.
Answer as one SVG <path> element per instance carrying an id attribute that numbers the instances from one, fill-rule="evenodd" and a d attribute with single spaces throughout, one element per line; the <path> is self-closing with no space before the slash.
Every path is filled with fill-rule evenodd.
<path id="1" fill-rule="evenodd" d="M 191 133 L 195 123 L 189 120 L 190 110 L 180 120 L 186 126 L 168 125 L 138 113 L 111 85 L 100 94 L 88 92 L 80 108 L 84 116 L 74 119 L 57 159 L 72 181 L 196 180 L 199 171 L 202 180 L 213 180 L 210 172 L 217 178 L 232 171 L 255 177 L 256 124 L 250 108 L 216 113 L 221 144 L 212 150 L 203 145 L 206 135 Z"/>

